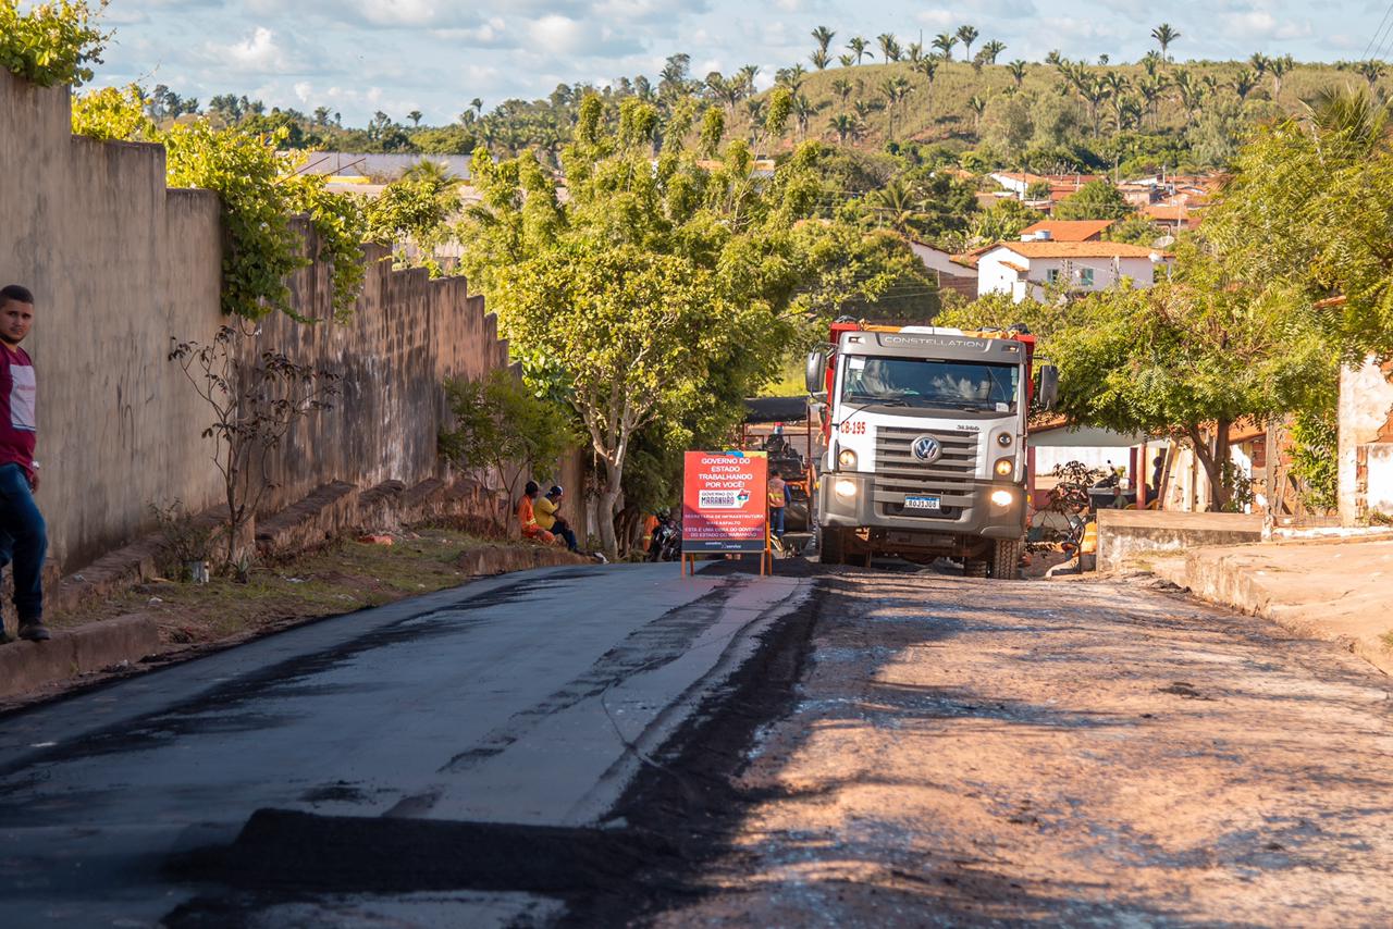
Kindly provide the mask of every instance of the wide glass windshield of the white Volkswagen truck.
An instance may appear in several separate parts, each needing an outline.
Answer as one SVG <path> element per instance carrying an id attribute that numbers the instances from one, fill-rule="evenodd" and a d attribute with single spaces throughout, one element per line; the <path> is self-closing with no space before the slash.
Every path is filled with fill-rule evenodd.
<path id="1" fill-rule="evenodd" d="M 864 355 L 848 355 L 846 362 L 843 403 L 1015 412 L 1015 365 Z"/>

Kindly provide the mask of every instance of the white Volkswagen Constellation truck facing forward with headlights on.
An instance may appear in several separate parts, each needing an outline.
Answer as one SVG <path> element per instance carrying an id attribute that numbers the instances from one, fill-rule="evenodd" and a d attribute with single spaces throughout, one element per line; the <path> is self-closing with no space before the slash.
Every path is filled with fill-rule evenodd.
<path id="1" fill-rule="evenodd" d="M 1036 386 L 1034 355 L 1018 329 L 833 323 L 807 372 L 822 560 L 947 556 L 968 577 L 1017 577 L 1031 403 L 1052 407 L 1059 379 L 1046 365 Z"/>

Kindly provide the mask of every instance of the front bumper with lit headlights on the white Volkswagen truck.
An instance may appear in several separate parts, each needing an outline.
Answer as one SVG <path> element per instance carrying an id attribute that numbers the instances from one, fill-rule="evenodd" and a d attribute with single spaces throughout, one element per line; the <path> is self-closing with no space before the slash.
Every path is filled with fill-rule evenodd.
<path id="1" fill-rule="evenodd" d="M 837 493 L 839 482 L 850 482 L 855 493 Z M 871 474 L 825 474 L 818 487 L 818 521 L 822 525 L 848 529 L 885 529 L 896 536 L 944 536 L 942 545 L 924 538 L 926 547 L 949 547 L 946 536 L 975 536 L 982 539 L 1020 539 L 1025 533 L 1025 492 L 1011 483 L 975 482 L 968 506 L 957 507 L 954 513 L 935 514 L 924 511 L 914 515 L 894 515 L 883 504 L 875 501 L 875 475 Z M 990 496 L 995 490 L 1011 494 L 1011 503 L 997 506 Z M 907 542 L 907 540 L 905 540 Z"/>

